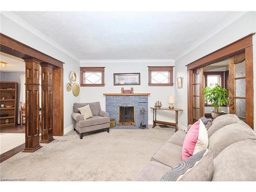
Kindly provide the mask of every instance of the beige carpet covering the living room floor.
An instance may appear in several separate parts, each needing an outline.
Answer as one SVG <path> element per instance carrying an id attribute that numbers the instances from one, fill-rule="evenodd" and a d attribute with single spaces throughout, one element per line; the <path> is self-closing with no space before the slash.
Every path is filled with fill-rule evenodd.
<path id="1" fill-rule="evenodd" d="M 1 178 L 27 181 L 132 181 L 174 134 L 172 128 L 110 130 L 79 139 L 71 131 L 35 153 L 2 162 Z"/>

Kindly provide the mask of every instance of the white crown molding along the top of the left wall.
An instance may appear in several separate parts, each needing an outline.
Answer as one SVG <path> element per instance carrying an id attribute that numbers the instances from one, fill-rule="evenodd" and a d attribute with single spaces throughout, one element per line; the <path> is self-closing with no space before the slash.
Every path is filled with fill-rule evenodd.
<path id="1" fill-rule="evenodd" d="M 62 46 L 60 46 L 59 44 L 57 44 L 57 42 L 52 40 L 50 37 L 48 37 L 47 35 L 45 35 L 41 31 L 39 31 L 38 29 L 36 29 L 32 25 L 30 25 L 29 23 L 27 23 L 24 19 L 20 18 L 15 13 L 13 13 L 11 11 L 1 11 L 0 14 L 2 14 L 4 16 L 6 16 L 7 18 L 11 19 L 15 24 L 17 24 L 17 25 L 23 27 L 24 29 L 28 30 L 29 32 L 33 33 L 34 35 L 36 35 L 40 39 L 48 42 L 48 44 L 50 44 L 54 48 L 58 49 L 59 51 L 65 53 L 66 55 L 70 56 L 71 58 L 79 61 L 78 57 L 76 57 L 73 53 L 71 53 L 67 49 L 65 49 Z"/>

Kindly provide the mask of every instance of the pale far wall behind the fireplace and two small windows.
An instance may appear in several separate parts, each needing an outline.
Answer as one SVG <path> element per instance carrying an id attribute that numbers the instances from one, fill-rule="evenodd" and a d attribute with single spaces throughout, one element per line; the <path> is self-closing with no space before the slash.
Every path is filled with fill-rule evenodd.
<path id="1" fill-rule="evenodd" d="M 133 87 L 134 93 L 151 93 L 151 95 L 148 96 L 148 108 L 154 106 L 157 100 L 161 101 L 163 106 L 167 107 L 169 105 L 168 96 L 174 95 L 174 87 L 151 87 L 147 84 L 147 66 L 174 66 L 174 61 L 81 61 L 80 66 L 105 67 L 105 87 L 81 87 L 80 99 L 81 102 L 100 101 L 102 110 L 105 110 L 105 96 L 103 96 L 103 93 L 121 93 L 121 87 L 124 89 L 131 89 L 131 87 Z M 140 73 L 141 84 L 140 86 L 114 86 L 113 73 Z M 148 110 L 148 123 L 152 124 L 153 111 Z M 174 115 L 169 111 L 159 111 L 157 118 L 159 120 L 170 120 L 170 118 L 174 118 Z"/>

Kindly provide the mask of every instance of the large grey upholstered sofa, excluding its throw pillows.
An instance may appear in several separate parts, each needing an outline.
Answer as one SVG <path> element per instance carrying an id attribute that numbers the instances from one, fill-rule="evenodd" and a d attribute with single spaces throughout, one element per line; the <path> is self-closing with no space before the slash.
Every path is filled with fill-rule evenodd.
<path id="1" fill-rule="evenodd" d="M 211 181 L 256 181 L 256 133 L 233 114 L 217 117 L 207 132 L 208 148 L 214 152 Z M 135 181 L 160 181 L 169 169 L 181 162 L 185 136 L 186 132 L 179 130 L 170 137 Z M 196 175 L 193 178 L 193 181 L 199 180 Z"/>

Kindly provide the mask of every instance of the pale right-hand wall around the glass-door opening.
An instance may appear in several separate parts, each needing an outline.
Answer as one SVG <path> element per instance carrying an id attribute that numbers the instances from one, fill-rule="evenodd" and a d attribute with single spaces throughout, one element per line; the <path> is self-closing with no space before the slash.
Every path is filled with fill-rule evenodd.
<path id="1" fill-rule="evenodd" d="M 176 106 L 178 108 L 184 109 L 183 113 L 181 114 L 181 121 L 180 123 L 183 126 L 187 126 L 187 69 L 185 65 L 188 63 L 201 58 L 204 55 L 207 55 L 217 49 L 220 49 L 233 41 L 236 41 L 250 33 L 256 32 L 256 12 L 248 12 L 238 20 L 224 28 L 222 31 L 217 33 L 216 35 L 212 36 L 203 44 L 195 48 L 194 50 L 190 51 L 186 55 L 182 56 L 180 59 L 175 61 L 175 70 L 176 70 L 176 77 L 183 77 L 184 88 L 183 89 L 175 89 L 175 96 L 176 98 Z M 255 35 L 253 37 L 254 45 L 253 45 L 253 52 L 254 52 L 254 63 L 255 66 Z M 254 85 L 256 84 L 256 70 L 253 71 L 254 73 Z M 255 96 L 255 89 L 254 88 L 254 103 L 256 101 Z M 255 105 L 255 104 L 254 104 Z M 256 106 L 254 106 L 254 116 L 256 115 Z M 254 118 L 254 127 L 256 127 L 256 118 Z M 256 130 L 256 129 L 254 129 Z"/>

